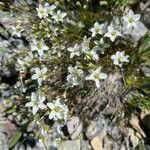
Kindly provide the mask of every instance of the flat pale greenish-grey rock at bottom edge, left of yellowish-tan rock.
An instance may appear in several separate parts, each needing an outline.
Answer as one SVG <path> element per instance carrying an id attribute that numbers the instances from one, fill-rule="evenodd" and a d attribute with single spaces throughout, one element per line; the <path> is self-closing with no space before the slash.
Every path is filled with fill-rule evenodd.
<path id="1" fill-rule="evenodd" d="M 58 150 L 81 150 L 80 140 L 64 141 L 58 145 Z"/>

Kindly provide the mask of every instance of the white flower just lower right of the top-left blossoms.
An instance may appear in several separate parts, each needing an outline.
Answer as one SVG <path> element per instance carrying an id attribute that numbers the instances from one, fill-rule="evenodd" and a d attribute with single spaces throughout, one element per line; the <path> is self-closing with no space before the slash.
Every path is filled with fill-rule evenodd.
<path id="1" fill-rule="evenodd" d="M 56 12 L 56 14 L 54 14 L 52 16 L 52 18 L 56 21 L 56 22 L 63 22 L 64 18 L 67 16 L 67 14 L 65 12 L 61 12 L 60 10 L 58 10 Z"/>

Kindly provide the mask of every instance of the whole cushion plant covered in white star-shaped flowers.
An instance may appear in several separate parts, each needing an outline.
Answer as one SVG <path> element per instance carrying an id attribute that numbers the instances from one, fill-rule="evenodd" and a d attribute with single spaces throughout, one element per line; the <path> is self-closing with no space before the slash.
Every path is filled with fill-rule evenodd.
<path id="1" fill-rule="evenodd" d="M 29 114 L 26 123 L 37 123 L 39 139 L 54 127 L 61 132 L 73 115 L 76 97 L 93 87 L 100 90 L 110 74 L 125 75 L 133 65 L 133 53 L 147 34 L 134 37 L 141 15 L 129 8 L 103 11 L 101 4 L 96 12 L 91 1 L 42 0 L 31 9 L 32 17 L 18 18 L 18 25 L 11 26 L 14 37 L 26 33 L 28 46 L 13 50 L 9 60 L 0 56 L 0 66 L 14 64 L 19 75 L 13 86 L 17 103 L 12 101 L 11 107 Z"/>

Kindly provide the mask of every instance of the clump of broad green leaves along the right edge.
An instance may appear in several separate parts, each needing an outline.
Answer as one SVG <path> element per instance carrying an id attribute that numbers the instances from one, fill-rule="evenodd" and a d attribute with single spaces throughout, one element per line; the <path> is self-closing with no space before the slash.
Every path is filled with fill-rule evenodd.
<path id="1" fill-rule="evenodd" d="M 127 102 L 126 109 L 133 112 L 136 108 L 150 110 L 150 77 L 141 72 L 141 65 L 150 64 L 150 34 L 147 34 L 132 52 L 131 62 L 126 71 L 126 83 L 133 98 Z"/>

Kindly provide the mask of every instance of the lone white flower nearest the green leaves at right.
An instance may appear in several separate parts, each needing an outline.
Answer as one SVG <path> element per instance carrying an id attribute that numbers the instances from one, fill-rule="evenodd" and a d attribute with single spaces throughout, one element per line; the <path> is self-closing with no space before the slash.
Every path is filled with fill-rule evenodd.
<path id="1" fill-rule="evenodd" d="M 123 62 L 129 62 L 128 55 L 124 54 L 125 52 L 119 52 L 117 51 L 115 55 L 111 56 L 111 59 L 113 60 L 114 65 L 118 65 L 119 67 L 122 66 Z"/>

